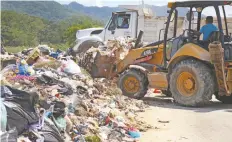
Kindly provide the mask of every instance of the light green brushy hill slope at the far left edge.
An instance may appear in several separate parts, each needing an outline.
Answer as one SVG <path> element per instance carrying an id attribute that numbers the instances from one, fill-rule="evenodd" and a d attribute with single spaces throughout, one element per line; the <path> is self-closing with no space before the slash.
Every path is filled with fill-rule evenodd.
<path id="1" fill-rule="evenodd" d="M 1 35 L 6 45 L 38 44 L 39 31 L 46 27 L 48 21 L 13 11 L 1 12 Z"/>

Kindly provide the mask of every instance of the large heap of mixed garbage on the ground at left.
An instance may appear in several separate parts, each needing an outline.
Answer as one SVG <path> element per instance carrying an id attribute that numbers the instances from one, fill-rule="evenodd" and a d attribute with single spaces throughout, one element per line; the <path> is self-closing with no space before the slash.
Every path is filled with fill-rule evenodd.
<path id="1" fill-rule="evenodd" d="M 1 70 L 1 141 L 135 141 L 151 126 L 116 80 L 92 79 L 72 57 L 47 46 L 14 55 Z"/>

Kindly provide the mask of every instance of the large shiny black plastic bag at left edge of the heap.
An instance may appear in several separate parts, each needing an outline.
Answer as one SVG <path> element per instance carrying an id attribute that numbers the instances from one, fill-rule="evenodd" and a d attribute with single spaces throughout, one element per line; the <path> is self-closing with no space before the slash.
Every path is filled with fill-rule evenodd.
<path id="1" fill-rule="evenodd" d="M 28 93 L 9 86 L 7 88 L 12 92 L 12 95 L 4 96 L 3 102 L 7 111 L 7 128 L 16 127 L 17 132 L 22 134 L 29 125 L 39 121 L 35 111 L 39 96 L 35 92 Z"/>

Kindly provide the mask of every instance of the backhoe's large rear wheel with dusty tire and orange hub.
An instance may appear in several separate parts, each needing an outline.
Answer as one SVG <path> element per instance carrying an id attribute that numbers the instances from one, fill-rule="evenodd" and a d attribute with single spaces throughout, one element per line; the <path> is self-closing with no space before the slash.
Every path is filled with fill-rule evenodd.
<path id="1" fill-rule="evenodd" d="M 208 104 L 215 92 L 215 75 L 204 63 L 189 59 L 176 64 L 170 76 L 172 96 L 183 106 Z"/>

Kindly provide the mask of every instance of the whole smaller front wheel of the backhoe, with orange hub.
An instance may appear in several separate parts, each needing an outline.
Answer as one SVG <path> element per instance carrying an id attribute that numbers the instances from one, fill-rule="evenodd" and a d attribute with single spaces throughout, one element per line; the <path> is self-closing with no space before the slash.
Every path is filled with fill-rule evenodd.
<path id="1" fill-rule="evenodd" d="M 123 95 L 141 99 L 147 93 L 148 79 L 143 72 L 129 69 L 120 75 L 118 87 L 122 90 Z"/>

